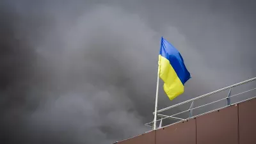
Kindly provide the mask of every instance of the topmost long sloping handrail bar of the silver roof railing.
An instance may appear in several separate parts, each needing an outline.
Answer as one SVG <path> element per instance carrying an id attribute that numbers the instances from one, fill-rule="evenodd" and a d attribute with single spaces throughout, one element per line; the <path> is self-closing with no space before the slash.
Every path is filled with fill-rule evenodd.
<path id="1" fill-rule="evenodd" d="M 249 83 L 250 81 L 255 81 L 255 80 L 256 80 L 256 77 L 254 77 L 254 78 L 252 78 L 252 79 L 248 79 L 248 80 L 246 80 L 246 81 L 242 81 L 241 83 L 237 83 L 237 84 L 233 84 L 233 85 L 231 85 L 231 86 L 227 86 L 227 87 L 225 87 L 225 88 L 221 88 L 220 90 L 216 90 L 216 91 L 214 91 L 214 92 L 207 93 L 207 94 L 201 95 L 201 96 L 199 96 L 199 97 L 195 97 L 194 99 L 186 100 L 186 101 L 184 101 L 184 102 L 180 102 L 179 104 L 175 104 L 175 105 L 173 105 L 173 106 L 169 106 L 169 107 L 167 107 L 167 108 L 160 109 L 160 110 L 157 111 L 157 113 L 160 113 L 160 112 L 162 112 L 162 111 L 166 111 L 167 109 L 171 109 L 171 108 L 180 106 L 180 105 L 182 105 L 182 104 L 186 104 L 186 103 L 188 103 L 188 102 L 191 102 L 191 101 L 193 101 L 193 100 L 201 99 L 201 98 L 203 98 L 203 97 L 207 97 L 207 96 L 209 96 L 209 95 L 213 95 L 214 93 L 222 92 L 222 91 L 224 91 L 224 90 L 228 90 L 228 89 L 230 89 L 230 88 L 234 88 L 234 87 L 239 86 L 239 85 L 241 85 L 241 84 Z M 155 114 L 155 112 L 154 112 L 153 114 Z"/>

